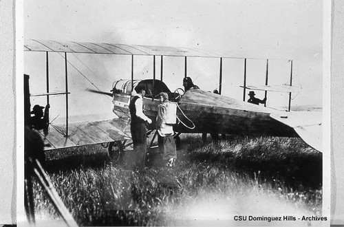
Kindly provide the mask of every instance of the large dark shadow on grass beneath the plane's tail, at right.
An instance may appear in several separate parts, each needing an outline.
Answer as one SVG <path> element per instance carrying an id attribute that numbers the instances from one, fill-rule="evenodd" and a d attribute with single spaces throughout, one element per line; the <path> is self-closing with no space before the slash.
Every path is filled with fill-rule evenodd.
<path id="1" fill-rule="evenodd" d="M 275 185 L 283 184 L 301 191 L 320 189 L 323 177 L 322 153 L 297 138 L 278 138 L 277 142 L 273 140 L 236 137 L 202 144 L 191 139 L 188 141 L 191 146 L 186 151 L 188 155 L 184 157 L 193 164 L 215 165 Z"/>

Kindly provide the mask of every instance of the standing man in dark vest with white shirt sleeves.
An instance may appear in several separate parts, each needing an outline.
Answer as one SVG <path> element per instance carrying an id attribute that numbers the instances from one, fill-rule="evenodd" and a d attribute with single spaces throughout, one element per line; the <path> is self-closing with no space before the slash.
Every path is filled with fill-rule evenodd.
<path id="1" fill-rule="evenodd" d="M 143 100 L 146 94 L 145 87 L 138 85 L 135 87 L 136 95 L 131 99 L 129 112 L 131 116 L 130 132 L 133 139 L 133 152 L 136 155 L 135 166 L 141 169 L 144 167 L 144 158 L 147 150 L 147 131 L 145 124 L 151 124 L 151 119 L 143 114 Z"/>

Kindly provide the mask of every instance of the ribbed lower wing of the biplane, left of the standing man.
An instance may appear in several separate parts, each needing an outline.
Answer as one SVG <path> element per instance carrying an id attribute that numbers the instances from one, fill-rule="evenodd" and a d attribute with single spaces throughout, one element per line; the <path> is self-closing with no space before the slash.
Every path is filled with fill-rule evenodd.
<path id="1" fill-rule="evenodd" d="M 76 147 L 87 144 L 100 144 L 116 140 L 131 139 L 129 118 L 114 118 L 111 120 L 72 122 L 68 124 L 68 136 L 65 125 L 50 125 L 49 133 L 41 136 L 46 149 Z"/>

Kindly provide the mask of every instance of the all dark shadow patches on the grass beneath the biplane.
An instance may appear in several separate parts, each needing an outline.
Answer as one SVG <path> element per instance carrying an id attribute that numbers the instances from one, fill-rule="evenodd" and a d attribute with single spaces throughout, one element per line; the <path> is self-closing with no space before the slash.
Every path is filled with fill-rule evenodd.
<path id="1" fill-rule="evenodd" d="M 182 166 L 215 165 L 297 190 L 322 186 L 322 153 L 298 139 L 231 137 L 202 144 L 200 138 L 186 137 L 182 144 L 178 151 L 178 162 Z M 106 149 L 100 145 L 47 151 L 46 156 L 48 173 L 80 167 L 101 169 L 110 162 Z M 161 154 L 151 153 L 147 158 L 149 167 L 163 165 Z"/>

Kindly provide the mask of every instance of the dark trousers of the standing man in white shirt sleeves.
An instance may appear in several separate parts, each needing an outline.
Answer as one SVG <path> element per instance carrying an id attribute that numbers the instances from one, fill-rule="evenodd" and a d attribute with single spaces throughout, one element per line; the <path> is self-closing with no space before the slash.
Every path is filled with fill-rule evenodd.
<path id="1" fill-rule="evenodd" d="M 144 167 L 144 158 L 147 150 L 147 131 L 144 122 L 131 122 L 131 138 L 133 140 L 133 162 L 135 166 Z"/>

